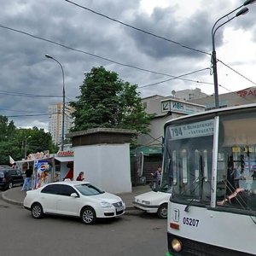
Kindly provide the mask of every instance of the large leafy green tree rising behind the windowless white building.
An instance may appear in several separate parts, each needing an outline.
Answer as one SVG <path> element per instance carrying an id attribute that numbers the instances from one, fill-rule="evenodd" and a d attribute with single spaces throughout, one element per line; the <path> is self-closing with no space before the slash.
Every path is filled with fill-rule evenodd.
<path id="1" fill-rule="evenodd" d="M 119 79 L 104 67 L 93 67 L 85 74 L 77 102 L 70 102 L 74 126 L 71 131 L 90 128 L 133 129 L 147 133 L 152 115 L 144 111 L 137 85 Z"/>

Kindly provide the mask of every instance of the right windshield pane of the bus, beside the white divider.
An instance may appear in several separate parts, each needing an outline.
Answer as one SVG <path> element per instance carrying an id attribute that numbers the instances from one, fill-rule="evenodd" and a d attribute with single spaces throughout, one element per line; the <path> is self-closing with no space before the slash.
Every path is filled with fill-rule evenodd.
<path id="1" fill-rule="evenodd" d="M 256 210 L 255 129 L 252 113 L 220 117 L 218 206 Z"/>

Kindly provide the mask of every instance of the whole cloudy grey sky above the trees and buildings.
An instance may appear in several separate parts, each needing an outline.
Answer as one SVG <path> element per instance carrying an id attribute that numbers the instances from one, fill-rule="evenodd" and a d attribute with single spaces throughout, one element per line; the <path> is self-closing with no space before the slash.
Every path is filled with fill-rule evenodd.
<path id="1" fill-rule="evenodd" d="M 79 96 L 84 73 L 99 66 L 137 84 L 142 97 L 195 88 L 212 95 L 212 26 L 244 3 L 0 1 L 0 114 L 17 127 L 46 131 L 48 106 L 62 101 L 62 74 L 45 54 L 64 69 L 67 102 Z M 220 94 L 256 83 L 256 4 L 247 7 L 247 15 L 230 20 L 215 35 Z M 181 79 L 173 79 L 177 76 Z"/>

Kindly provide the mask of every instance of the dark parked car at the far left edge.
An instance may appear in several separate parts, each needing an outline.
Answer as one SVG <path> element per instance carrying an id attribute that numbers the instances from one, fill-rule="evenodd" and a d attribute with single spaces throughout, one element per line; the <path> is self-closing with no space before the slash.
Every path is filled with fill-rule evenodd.
<path id="1" fill-rule="evenodd" d="M 0 188 L 11 189 L 14 186 L 22 185 L 24 178 L 20 169 L 9 166 L 0 166 Z"/>

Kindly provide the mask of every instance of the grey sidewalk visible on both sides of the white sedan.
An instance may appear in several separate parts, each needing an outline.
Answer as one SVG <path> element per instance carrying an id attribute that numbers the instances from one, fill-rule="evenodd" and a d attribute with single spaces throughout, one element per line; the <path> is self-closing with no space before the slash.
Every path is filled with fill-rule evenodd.
<path id="1" fill-rule="evenodd" d="M 4 201 L 8 201 L 9 203 L 23 206 L 23 201 L 26 195 L 26 191 L 20 191 L 21 187 L 15 187 L 12 189 L 8 189 L 2 193 L 2 197 Z M 132 206 L 132 201 L 134 200 L 134 196 L 143 194 L 145 192 L 151 191 L 148 184 L 145 186 L 139 185 L 131 188 L 131 193 L 121 193 L 118 194 L 119 197 L 125 202 L 126 210 L 135 209 Z"/>

